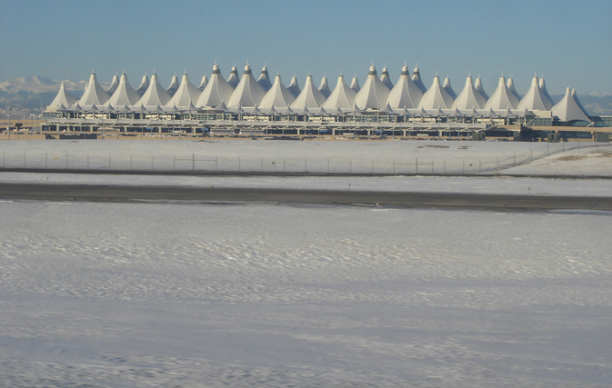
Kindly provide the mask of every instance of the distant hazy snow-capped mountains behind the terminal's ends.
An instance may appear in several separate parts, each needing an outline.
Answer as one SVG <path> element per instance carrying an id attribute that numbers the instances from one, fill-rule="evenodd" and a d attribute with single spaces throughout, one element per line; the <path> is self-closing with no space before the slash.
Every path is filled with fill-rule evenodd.
<path id="1" fill-rule="evenodd" d="M 35 75 L 11 79 L 0 84 L 0 109 L 5 111 L 6 108 L 11 108 L 11 116 L 15 118 L 40 114 L 41 104 L 45 110 L 46 105 L 51 104 L 57 95 L 62 83 L 65 89 L 77 98 L 83 95 L 87 85 L 85 81 L 54 81 Z M 102 86 L 106 89 L 110 87 L 110 83 Z M 552 98 L 557 102 L 563 95 L 552 95 Z M 591 93 L 578 95 L 578 98 L 589 115 L 612 115 L 612 93 Z"/>

